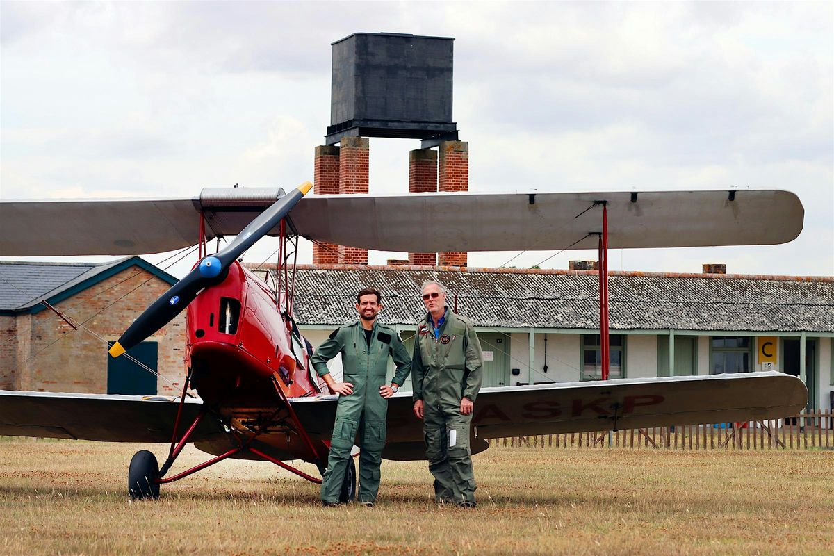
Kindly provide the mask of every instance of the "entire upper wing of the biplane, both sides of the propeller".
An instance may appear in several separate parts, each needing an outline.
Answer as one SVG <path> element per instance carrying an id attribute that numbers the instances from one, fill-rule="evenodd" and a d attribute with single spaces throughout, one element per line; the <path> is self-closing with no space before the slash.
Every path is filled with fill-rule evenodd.
<path id="1" fill-rule="evenodd" d="M 0 255 L 184 248 L 198 242 L 201 211 L 208 238 L 235 235 L 282 193 L 213 188 L 193 199 L 0 201 Z M 601 231 L 600 209 L 584 212 L 595 201 L 608 206 L 610 248 L 785 243 L 799 235 L 805 214 L 793 193 L 738 190 L 323 195 L 302 199 L 290 216 L 306 238 L 384 251 L 584 249 L 597 247 L 585 236 Z"/>

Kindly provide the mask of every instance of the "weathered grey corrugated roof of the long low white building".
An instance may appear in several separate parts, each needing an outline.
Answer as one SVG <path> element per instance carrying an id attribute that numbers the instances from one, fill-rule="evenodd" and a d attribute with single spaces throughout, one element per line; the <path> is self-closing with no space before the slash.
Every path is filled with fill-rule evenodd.
<path id="1" fill-rule="evenodd" d="M 447 303 L 456 294 L 479 326 L 599 327 L 594 271 L 299 265 L 294 313 L 303 324 L 353 321 L 356 292 L 372 286 L 383 294 L 381 322 L 413 324 L 426 279 L 444 283 Z M 834 332 L 834 278 L 613 272 L 609 298 L 612 329 Z"/>

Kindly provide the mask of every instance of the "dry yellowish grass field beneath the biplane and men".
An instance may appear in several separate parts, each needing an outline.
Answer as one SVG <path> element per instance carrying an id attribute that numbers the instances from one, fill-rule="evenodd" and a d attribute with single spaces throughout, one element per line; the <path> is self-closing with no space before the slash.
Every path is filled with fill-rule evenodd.
<path id="1" fill-rule="evenodd" d="M 0 553 L 834 553 L 830 451 L 490 448 L 461 510 L 435 506 L 422 462 L 384 462 L 370 509 L 321 508 L 315 485 L 249 462 L 129 503 L 141 448 L 0 442 Z M 174 471 L 203 458 L 187 448 Z"/>

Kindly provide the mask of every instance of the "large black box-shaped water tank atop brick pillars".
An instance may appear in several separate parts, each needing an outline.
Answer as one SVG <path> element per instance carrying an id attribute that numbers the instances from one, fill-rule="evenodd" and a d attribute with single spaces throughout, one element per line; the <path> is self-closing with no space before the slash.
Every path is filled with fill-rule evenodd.
<path id="1" fill-rule="evenodd" d="M 338 143 L 345 135 L 456 138 L 454 41 L 400 33 L 354 33 L 333 43 L 327 143 Z"/>

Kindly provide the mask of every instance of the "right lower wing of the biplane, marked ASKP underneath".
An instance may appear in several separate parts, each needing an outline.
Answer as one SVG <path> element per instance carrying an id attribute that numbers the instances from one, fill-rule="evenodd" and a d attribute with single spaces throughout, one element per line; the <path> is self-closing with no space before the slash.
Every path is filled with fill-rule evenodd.
<path id="1" fill-rule="evenodd" d="M 775 419 L 796 415 L 807 399 L 799 378 L 776 372 L 484 388 L 473 438 Z M 422 440 L 411 408 L 407 394 L 389 401 L 389 446 Z"/>

